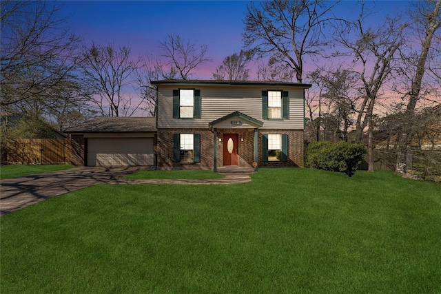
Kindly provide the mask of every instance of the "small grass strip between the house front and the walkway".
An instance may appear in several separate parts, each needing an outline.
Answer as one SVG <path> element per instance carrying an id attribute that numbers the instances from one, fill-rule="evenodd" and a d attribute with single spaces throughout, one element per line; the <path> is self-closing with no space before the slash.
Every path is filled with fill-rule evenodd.
<path id="1" fill-rule="evenodd" d="M 130 180 L 141 179 L 183 179 L 183 180 L 207 180 L 224 178 L 224 176 L 209 170 L 172 170 L 172 171 L 137 171 L 134 174 L 123 177 Z"/>

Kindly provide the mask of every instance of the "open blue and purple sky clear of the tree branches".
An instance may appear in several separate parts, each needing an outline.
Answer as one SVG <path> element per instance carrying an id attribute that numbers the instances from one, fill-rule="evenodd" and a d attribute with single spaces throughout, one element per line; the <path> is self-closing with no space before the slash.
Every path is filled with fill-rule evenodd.
<path id="1" fill-rule="evenodd" d="M 402 9 L 410 1 L 367 1 L 375 5 L 373 17 Z M 85 42 L 128 45 L 134 58 L 145 52 L 158 54 L 159 43 L 168 34 L 207 45 L 212 63 L 196 72 L 197 78 L 212 78 L 225 56 L 242 48 L 243 19 L 249 1 L 62 1 L 67 25 Z M 356 1 L 338 4 L 340 17 L 358 15 Z"/>

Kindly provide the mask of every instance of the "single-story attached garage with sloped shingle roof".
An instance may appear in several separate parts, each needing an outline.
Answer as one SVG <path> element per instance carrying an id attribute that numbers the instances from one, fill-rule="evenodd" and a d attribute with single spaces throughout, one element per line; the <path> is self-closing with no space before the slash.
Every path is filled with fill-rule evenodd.
<path id="1" fill-rule="evenodd" d="M 154 166 L 156 119 L 98 117 L 71 127 L 74 165 L 89 167 Z"/>

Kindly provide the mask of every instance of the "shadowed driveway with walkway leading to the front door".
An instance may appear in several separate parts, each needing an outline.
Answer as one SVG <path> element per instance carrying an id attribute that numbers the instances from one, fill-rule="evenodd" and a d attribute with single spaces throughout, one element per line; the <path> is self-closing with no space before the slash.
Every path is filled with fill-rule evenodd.
<path id="1" fill-rule="evenodd" d="M 146 167 L 79 167 L 10 178 L 0 182 L 0 216 L 64 193 L 97 184 L 231 185 L 251 181 L 249 174 L 224 174 L 211 180 L 121 180 Z"/>

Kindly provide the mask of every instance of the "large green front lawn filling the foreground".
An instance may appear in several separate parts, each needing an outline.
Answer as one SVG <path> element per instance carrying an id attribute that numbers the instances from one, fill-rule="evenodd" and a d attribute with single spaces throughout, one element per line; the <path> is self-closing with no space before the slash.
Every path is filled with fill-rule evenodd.
<path id="1" fill-rule="evenodd" d="M 1 217 L 2 293 L 441 293 L 441 184 L 260 169 L 98 185 Z"/>

